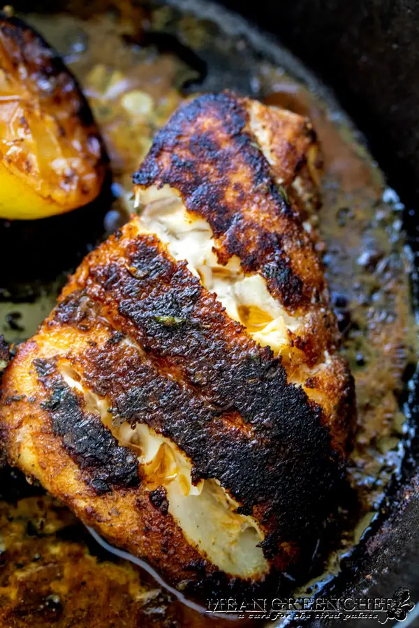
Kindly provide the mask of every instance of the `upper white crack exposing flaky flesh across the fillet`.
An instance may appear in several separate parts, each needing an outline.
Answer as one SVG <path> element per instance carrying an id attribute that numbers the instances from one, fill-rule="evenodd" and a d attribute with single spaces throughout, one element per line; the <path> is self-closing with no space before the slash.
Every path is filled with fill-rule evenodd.
<path id="1" fill-rule="evenodd" d="M 156 234 L 177 262 L 186 260 L 191 273 L 200 278 L 203 287 L 216 294 L 228 316 L 240 322 L 258 345 L 270 347 L 275 356 L 280 355 L 291 365 L 294 350 L 290 333 L 301 333 L 304 316 L 288 314 L 270 294 L 265 278 L 258 273 L 244 274 L 236 256 L 227 264 L 220 264 L 214 253 L 216 243 L 210 225 L 184 207 L 177 190 L 167 185 L 138 189 L 135 206 L 143 232 Z M 330 357 L 325 351 L 321 363 L 314 367 L 300 364 L 298 368 L 289 368 L 288 381 L 304 387 L 308 377 L 329 364 Z M 323 401 L 320 391 L 306 387 L 304 390 L 313 401 Z"/>

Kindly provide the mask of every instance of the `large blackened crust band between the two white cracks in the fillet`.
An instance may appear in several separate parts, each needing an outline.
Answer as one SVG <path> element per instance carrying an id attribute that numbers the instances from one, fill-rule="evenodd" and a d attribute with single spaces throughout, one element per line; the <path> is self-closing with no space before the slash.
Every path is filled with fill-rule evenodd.
<path id="1" fill-rule="evenodd" d="M 219 479 L 243 512 L 277 530 L 277 544 L 300 543 L 342 472 L 321 407 L 155 237 L 118 246 L 108 262 L 92 260 L 84 291 L 145 353 L 125 343 L 89 348 L 87 387 L 110 399 L 114 416 L 175 442 L 193 481 Z M 135 277 L 131 266 L 148 272 Z"/>

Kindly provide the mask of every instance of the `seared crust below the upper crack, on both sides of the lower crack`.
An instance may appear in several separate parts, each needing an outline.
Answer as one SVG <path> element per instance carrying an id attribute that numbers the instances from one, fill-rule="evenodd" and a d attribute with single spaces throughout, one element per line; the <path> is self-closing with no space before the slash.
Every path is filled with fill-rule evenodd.
<path id="1" fill-rule="evenodd" d="M 182 323 L 166 324 L 171 317 Z M 219 478 L 244 514 L 264 522 L 267 558 L 280 570 L 291 567 L 307 522 L 314 529 L 340 473 L 322 410 L 286 384 L 270 350 L 229 320 L 184 264 L 154 237 L 138 236 L 138 219 L 87 256 L 19 350 L 3 383 L 3 441 L 16 464 L 23 439 L 31 451 L 25 472 L 173 582 L 211 574 L 170 514 L 150 501 L 132 452 L 68 389 L 57 372 L 63 364 L 106 396 L 114 416 L 146 421 L 176 442 L 197 478 Z"/>

